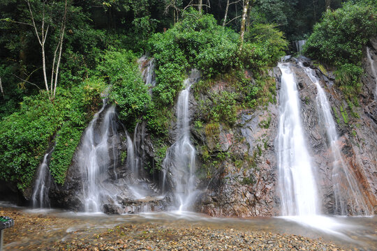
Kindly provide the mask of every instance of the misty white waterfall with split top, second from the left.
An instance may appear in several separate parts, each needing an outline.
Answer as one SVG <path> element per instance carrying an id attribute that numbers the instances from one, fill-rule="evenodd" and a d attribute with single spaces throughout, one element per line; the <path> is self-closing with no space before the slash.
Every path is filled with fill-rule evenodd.
<path id="1" fill-rule="evenodd" d="M 78 153 L 86 212 L 100 212 L 103 201 L 116 195 L 111 192 L 107 184 L 110 178 L 108 167 L 111 165 L 109 146 L 113 144 L 110 135 L 115 131 L 115 107 L 111 106 L 107 109 L 105 107 L 104 100 L 103 107 L 94 115 L 94 119 L 84 132 L 82 147 Z M 103 118 L 99 121 L 103 112 Z M 115 199 L 110 200 L 115 201 Z"/>

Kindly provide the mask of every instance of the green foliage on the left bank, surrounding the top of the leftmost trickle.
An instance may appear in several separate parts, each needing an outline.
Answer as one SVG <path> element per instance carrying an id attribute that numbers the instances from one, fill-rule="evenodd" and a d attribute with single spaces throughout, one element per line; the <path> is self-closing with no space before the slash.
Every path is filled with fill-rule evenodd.
<path id="1" fill-rule="evenodd" d="M 50 172 L 57 183 L 64 183 L 65 173 L 80 141 L 92 107 L 84 100 L 94 98 L 91 91 L 77 86 L 71 91 L 58 89 L 50 102 L 43 91 L 38 96 L 25 97 L 20 111 L 0 123 L 0 178 L 17 183 L 24 189 L 31 184 L 34 173 L 50 142 L 55 138 Z M 93 89 L 99 87 L 94 85 Z M 102 90 L 101 90 L 102 91 Z M 99 93 L 97 95 L 99 96 Z M 94 104 L 91 101 L 92 105 Z"/>

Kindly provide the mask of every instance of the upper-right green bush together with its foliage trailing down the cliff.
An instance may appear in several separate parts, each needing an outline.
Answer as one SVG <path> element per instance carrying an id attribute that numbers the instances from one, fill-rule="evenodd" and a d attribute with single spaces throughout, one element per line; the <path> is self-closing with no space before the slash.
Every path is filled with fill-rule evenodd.
<path id="1" fill-rule="evenodd" d="M 336 82 L 352 99 L 360 92 L 360 59 L 369 38 L 377 35 L 377 7 L 372 1 L 349 1 L 327 10 L 304 46 L 304 54 L 337 66 Z"/>

